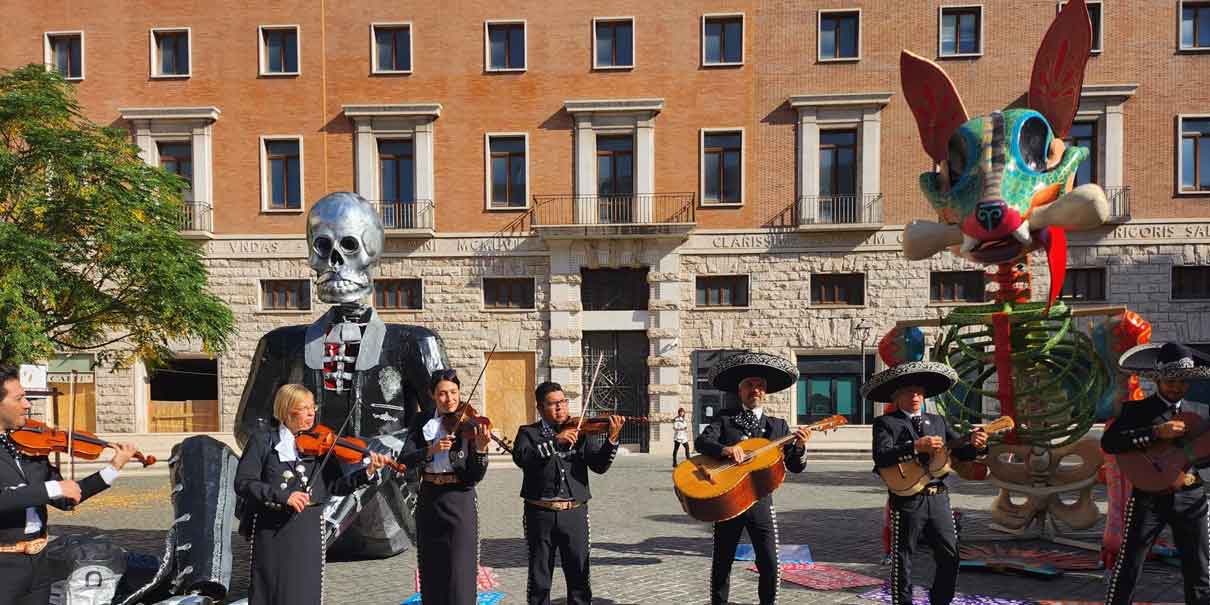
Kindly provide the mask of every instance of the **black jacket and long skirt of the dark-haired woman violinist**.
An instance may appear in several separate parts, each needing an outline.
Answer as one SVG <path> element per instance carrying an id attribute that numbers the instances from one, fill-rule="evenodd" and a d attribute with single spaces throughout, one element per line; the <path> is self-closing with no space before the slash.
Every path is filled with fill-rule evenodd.
<path id="1" fill-rule="evenodd" d="M 428 442 L 419 414 L 408 431 L 399 462 L 426 467 Z M 488 474 L 488 454 L 474 449 L 474 439 L 455 437 L 449 450 L 459 483 L 420 483 L 416 502 L 416 566 L 425 605 L 474 605 L 479 574 L 479 507 L 474 485 Z M 424 468 L 421 468 L 424 471 Z"/>

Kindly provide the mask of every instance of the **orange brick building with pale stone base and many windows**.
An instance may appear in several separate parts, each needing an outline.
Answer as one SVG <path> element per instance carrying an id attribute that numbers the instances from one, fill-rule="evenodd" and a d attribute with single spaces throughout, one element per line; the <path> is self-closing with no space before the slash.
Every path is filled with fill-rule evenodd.
<path id="1" fill-rule="evenodd" d="M 703 421 L 727 402 L 701 379 L 745 348 L 797 359 L 782 414 L 866 424 L 855 390 L 881 334 L 981 295 L 980 267 L 900 252 L 903 225 L 933 211 L 899 52 L 937 60 L 987 113 L 1022 97 L 1058 10 L 353 4 L 2 2 L 0 67 L 64 71 L 92 120 L 188 172 L 185 232 L 240 319 L 219 359 L 183 345 L 154 375 L 91 374 L 99 428 L 230 428 L 257 339 L 324 310 L 304 217 L 338 190 L 387 225 L 386 321 L 436 329 L 467 375 L 499 346 L 477 401 L 506 427 L 532 417 L 536 381 L 578 397 L 600 353 L 595 409 Z M 1073 136 L 1113 217 L 1073 236 L 1066 294 L 1127 304 L 1157 339 L 1210 342 L 1210 2 L 1090 6 Z M 1036 292 L 1047 280 L 1038 266 Z"/>

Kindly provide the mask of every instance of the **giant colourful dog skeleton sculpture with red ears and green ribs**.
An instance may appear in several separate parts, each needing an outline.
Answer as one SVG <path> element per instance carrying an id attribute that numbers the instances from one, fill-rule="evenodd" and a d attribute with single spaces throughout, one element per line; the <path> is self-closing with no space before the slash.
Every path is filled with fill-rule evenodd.
<path id="1" fill-rule="evenodd" d="M 1084 1 L 1067 2 L 1036 54 L 1025 106 L 973 119 L 939 65 L 908 51 L 900 56 L 904 96 L 935 162 L 920 185 L 940 218 L 908 225 L 904 254 L 918 260 L 949 249 L 995 266 L 991 304 L 956 309 L 939 322 L 932 358 L 961 380 L 938 404 L 964 430 L 1014 416 L 1018 430 L 986 460 L 1001 488 L 992 518 L 1002 529 L 1032 526 L 1053 537 L 1062 532 L 1055 519 L 1070 529 L 1099 519 L 1091 485 L 1102 456 L 1097 442 L 1084 437 L 1102 402 L 1120 394 L 1111 365 L 1116 353 L 1150 334 L 1137 315 L 1117 310 L 1102 312 L 1111 317 L 1090 338 L 1056 300 L 1066 232 L 1095 229 L 1108 215 L 1100 186 L 1072 186 L 1088 150 L 1062 140 L 1078 109 L 1091 39 Z M 1030 301 L 1026 257 L 1039 249 L 1049 265 L 1049 295 Z M 893 348 L 903 334 L 899 327 L 885 340 Z M 995 401 L 986 414 L 985 399 Z"/>

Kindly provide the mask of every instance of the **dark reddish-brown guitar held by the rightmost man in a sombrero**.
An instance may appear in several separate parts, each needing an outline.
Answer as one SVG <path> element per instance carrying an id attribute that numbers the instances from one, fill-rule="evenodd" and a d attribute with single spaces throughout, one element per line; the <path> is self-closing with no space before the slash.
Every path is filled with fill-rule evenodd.
<path id="1" fill-rule="evenodd" d="M 1210 422 L 1192 411 L 1172 417 L 1185 422 L 1177 439 L 1159 439 L 1145 450 L 1117 454 L 1118 468 L 1143 491 L 1166 492 L 1183 486 L 1183 474 L 1198 461 L 1210 457 Z"/>

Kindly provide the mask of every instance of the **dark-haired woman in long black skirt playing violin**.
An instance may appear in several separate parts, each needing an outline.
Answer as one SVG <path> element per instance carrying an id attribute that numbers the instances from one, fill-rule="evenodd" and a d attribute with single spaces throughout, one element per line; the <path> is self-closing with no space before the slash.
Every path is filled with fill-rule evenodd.
<path id="1" fill-rule="evenodd" d="M 461 404 L 457 373 L 437 370 L 433 414 L 417 414 L 399 461 L 422 466 L 416 503 L 420 592 L 425 605 L 473 605 L 479 570 L 474 485 L 488 472 L 488 427 Z"/>

